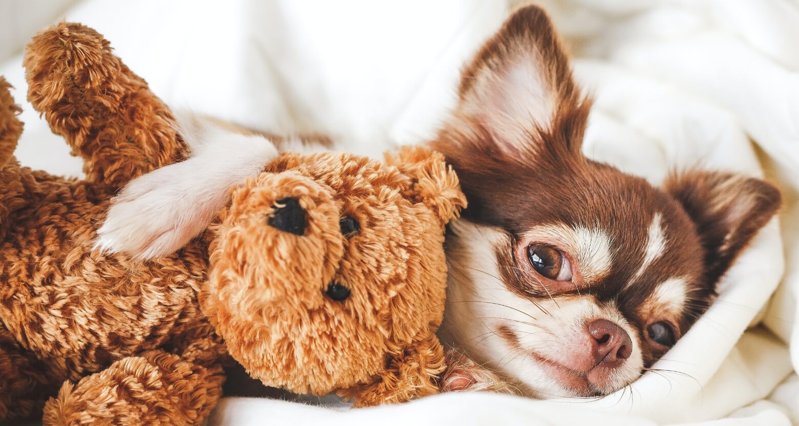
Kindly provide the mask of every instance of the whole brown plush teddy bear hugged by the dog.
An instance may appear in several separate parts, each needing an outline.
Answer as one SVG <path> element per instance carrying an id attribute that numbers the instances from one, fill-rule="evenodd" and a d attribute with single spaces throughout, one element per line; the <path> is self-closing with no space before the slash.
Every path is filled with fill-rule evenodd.
<path id="1" fill-rule="evenodd" d="M 283 153 L 209 232 L 131 261 L 94 249 L 96 230 L 117 189 L 186 156 L 169 109 L 85 26 L 38 34 L 25 66 L 86 178 L 18 165 L 0 78 L 0 421 L 201 424 L 228 353 L 357 405 L 437 392 L 443 230 L 465 205 L 442 156 Z"/>

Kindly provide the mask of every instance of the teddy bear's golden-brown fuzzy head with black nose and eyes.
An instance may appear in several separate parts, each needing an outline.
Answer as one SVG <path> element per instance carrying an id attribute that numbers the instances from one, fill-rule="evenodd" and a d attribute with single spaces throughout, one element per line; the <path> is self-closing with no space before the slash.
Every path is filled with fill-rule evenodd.
<path id="1" fill-rule="evenodd" d="M 465 203 L 429 149 L 281 154 L 233 190 L 204 310 L 264 384 L 403 400 L 442 365 L 443 231 Z"/>

